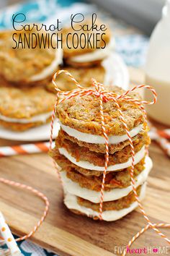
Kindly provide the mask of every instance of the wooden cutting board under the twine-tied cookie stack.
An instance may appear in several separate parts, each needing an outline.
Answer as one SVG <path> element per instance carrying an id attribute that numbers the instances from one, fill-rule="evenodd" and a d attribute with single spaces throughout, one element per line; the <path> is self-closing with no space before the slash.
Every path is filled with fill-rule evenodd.
<path id="1" fill-rule="evenodd" d="M 133 82 L 143 82 L 142 72 L 130 69 Z M 0 145 L 19 142 L 1 140 Z M 170 213 L 170 161 L 164 152 L 152 142 L 150 155 L 153 170 L 148 178 L 146 213 L 154 223 L 168 222 Z M 0 158 L 0 176 L 31 185 L 50 200 L 50 212 L 31 240 L 59 255 L 120 255 L 118 247 L 125 246 L 146 221 L 137 209 L 115 222 L 93 221 L 76 216 L 63 205 L 63 192 L 58 182 L 52 160 L 45 153 L 16 155 Z M 43 202 L 31 193 L 0 185 L 0 210 L 4 213 L 14 234 L 27 234 L 39 220 Z M 166 235 L 170 231 L 164 229 Z M 135 242 L 133 248 L 166 246 L 166 242 L 154 231 L 147 231 Z M 121 248 L 120 248 L 121 249 Z M 164 255 L 164 254 L 162 254 Z"/>

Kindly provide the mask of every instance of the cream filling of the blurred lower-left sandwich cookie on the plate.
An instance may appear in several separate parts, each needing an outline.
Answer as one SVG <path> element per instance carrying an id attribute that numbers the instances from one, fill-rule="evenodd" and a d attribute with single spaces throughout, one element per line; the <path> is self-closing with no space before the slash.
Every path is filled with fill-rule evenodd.
<path id="1" fill-rule="evenodd" d="M 17 118 L 11 118 L 7 116 L 3 116 L 0 114 L 0 120 L 7 121 L 10 123 L 17 123 L 17 124 L 29 124 L 29 123 L 35 123 L 37 121 L 42 121 L 42 123 L 45 123 L 47 119 L 52 115 L 52 112 L 48 112 L 45 114 L 40 114 L 37 116 L 32 116 L 29 119 L 17 119 Z"/>

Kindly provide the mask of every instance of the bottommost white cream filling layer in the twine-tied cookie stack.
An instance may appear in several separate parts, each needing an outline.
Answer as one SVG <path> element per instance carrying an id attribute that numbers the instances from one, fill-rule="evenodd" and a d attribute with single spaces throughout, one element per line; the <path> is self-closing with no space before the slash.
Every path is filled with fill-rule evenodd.
<path id="1" fill-rule="evenodd" d="M 143 200 L 145 195 L 146 195 L 146 183 L 143 184 L 143 186 L 141 187 L 139 199 Z M 76 195 L 71 195 L 66 192 L 66 195 L 64 198 L 64 204 L 68 209 L 79 210 L 79 212 L 86 214 L 86 216 L 90 216 L 90 217 L 99 216 L 99 213 L 97 213 L 97 211 L 92 210 L 91 208 L 86 208 L 84 206 L 79 205 L 76 200 Z M 137 207 L 138 207 L 138 202 L 135 201 L 130 205 L 130 207 L 124 208 L 122 210 L 105 210 L 102 213 L 102 219 L 104 221 L 116 221 L 119 218 L 122 218 L 123 216 L 132 212 Z"/>

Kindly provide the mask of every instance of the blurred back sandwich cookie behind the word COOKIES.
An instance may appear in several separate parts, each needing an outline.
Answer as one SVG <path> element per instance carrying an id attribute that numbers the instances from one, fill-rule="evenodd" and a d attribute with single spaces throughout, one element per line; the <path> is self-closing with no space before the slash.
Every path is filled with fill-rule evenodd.
<path id="1" fill-rule="evenodd" d="M 97 24 L 101 25 L 102 22 L 98 20 Z M 66 64 L 73 67 L 100 64 L 115 48 L 115 39 L 112 38 L 109 27 L 104 31 L 91 32 L 82 30 L 83 26 L 90 27 L 91 22 L 82 22 L 81 29 L 79 23 L 63 29 L 63 59 Z"/>

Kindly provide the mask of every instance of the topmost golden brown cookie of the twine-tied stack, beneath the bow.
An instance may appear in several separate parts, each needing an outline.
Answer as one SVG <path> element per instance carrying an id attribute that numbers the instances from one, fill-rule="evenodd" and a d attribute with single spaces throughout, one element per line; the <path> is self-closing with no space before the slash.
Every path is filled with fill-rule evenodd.
<path id="1" fill-rule="evenodd" d="M 114 86 L 112 91 L 118 94 L 125 92 L 124 90 Z M 130 93 L 133 98 L 138 98 L 138 94 Z M 128 129 L 138 127 L 143 124 L 144 115 L 139 106 L 133 102 L 118 100 L 122 114 L 127 123 Z M 122 125 L 120 114 L 117 111 L 115 102 L 110 100 L 103 103 L 104 121 L 107 135 L 125 135 L 125 128 Z M 99 98 L 94 95 L 79 95 L 63 101 L 56 108 L 56 116 L 61 123 L 91 135 L 103 135 Z"/>

